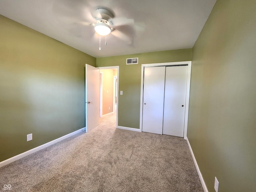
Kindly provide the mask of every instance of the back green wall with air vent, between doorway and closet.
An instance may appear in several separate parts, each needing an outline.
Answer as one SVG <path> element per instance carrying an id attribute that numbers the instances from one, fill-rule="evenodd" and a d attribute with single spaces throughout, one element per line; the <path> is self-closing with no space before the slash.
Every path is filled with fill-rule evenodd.
<path id="1" fill-rule="evenodd" d="M 126 58 L 137 57 L 139 64 L 126 65 Z M 97 58 L 97 67 L 119 66 L 118 126 L 140 128 L 141 64 L 191 60 L 192 49 Z"/>

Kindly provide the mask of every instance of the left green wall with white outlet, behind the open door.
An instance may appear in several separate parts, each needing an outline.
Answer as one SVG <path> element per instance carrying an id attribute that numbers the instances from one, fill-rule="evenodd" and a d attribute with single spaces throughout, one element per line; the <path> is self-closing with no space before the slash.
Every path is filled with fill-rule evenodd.
<path id="1" fill-rule="evenodd" d="M 84 66 L 96 58 L 1 15 L 0 26 L 1 162 L 85 126 Z"/>

